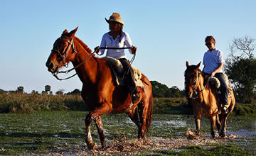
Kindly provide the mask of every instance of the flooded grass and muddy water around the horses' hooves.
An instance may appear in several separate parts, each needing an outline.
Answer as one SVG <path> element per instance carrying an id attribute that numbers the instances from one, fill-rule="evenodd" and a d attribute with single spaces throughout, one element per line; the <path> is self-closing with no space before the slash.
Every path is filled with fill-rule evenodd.
<path id="1" fill-rule="evenodd" d="M 146 140 L 137 140 L 137 127 L 125 114 L 102 116 L 107 149 L 89 151 L 85 145 L 87 112 L 47 111 L 34 114 L 0 114 L 0 154 L 43 153 L 43 155 L 137 155 L 161 150 L 181 151 L 186 146 L 238 145 L 256 155 L 256 118 L 230 116 L 226 138 L 210 137 L 210 121 L 201 121 L 201 137 L 187 139 L 193 131 L 193 116 L 154 114 Z M 95 124 L 92 138 L 100 147 Z"/>

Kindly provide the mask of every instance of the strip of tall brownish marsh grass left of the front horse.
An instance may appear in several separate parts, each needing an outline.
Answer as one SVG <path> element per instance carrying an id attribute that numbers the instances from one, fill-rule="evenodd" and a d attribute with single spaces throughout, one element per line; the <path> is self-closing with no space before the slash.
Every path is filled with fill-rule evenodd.
<path id="1" fill-rule="evenodd" d="M 80 95 L 0 94 L 0 113 L 35 111 L 86 111 Z"/>

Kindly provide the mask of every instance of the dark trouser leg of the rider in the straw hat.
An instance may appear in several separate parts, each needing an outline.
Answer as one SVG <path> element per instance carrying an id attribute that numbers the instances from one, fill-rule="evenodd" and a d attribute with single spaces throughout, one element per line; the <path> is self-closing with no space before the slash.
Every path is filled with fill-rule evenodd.
<path id="1" fill-rule="evenodd" d="M 124 68 L 124 83 L 127 84 L 127 87 L 129 89 L 130 94 L 136 94 L 137 93 L 137 87 L 136 84 L 134 83 L 134 74 L 132 74 L 134 71 L 132 67 L 129 67 L 129 61 L 125 58 L 118 59 L 122 67 Z"/>

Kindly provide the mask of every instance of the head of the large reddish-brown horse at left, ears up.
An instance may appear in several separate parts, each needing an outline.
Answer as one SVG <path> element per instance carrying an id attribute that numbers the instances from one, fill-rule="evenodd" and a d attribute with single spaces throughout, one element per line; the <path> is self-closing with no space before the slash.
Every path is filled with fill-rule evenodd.
<path id="1" fill-rule="evenodd" d="M 68 63 L 75 59 L 75 47 L 74 37 L 78 27 L 68 33 L 68 30 L 64 30 L 63 34 L 55 40 L 53 44 L 53 50 L 51 50 L 46 67 L 51 73 L 58 72 L 60 67 L 68 67 Z"/>

